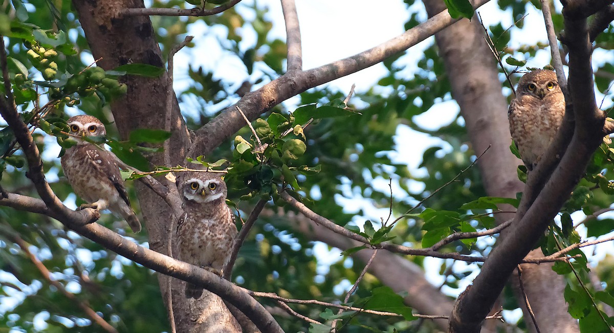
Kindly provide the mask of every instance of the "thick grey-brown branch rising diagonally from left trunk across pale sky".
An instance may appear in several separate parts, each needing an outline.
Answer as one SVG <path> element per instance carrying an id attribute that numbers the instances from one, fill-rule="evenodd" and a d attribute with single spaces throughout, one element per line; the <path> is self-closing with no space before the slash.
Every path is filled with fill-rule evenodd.
<path id="1" fill-rule="evenodd" d="M 489 0 L 478 0 L 474 8 L 478 8 Z M 409 49 L 434 33 L 441 31 L 460 18 L 451 18 L 447 11 L 429 18 L 421 25 L 409 29 L 405 33 L 372 49 L 358 53 L 348 58 L 334 61 L 308 71 L 287 72 L 254 92 L 247 93 L 235 105 L 225 109 L 219 116 L 212 119 L 195 132 L 192 147 L 188 157 L 208 155 L 214 147 L 230 138 L 243 127 L 243 119 L 236 106 L 245 112 L 250 120 L 256 119 L 262 112 L 266 112 L 281 103 L 281 101 L 298 95 L 309 88 L 325 84 L 339 77 L 347 76 L 367 67 L 373 66 L 392 55 Z"/>

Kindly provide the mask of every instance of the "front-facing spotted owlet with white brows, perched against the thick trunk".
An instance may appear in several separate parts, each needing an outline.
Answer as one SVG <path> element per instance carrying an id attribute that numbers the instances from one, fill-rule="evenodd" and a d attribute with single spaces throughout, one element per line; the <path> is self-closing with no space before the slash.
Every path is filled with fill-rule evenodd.
<path id="1" fill-rule="evenodd" d="M 177 221 L 179 259 L 217 275 L 230 260 L 237 234 L 235 217 L 226 205 L 226 183 L 216 173 L 182 173 L 177 187 L 184 213 Z M 198 299 L 203 289 L 185 284 L 185 297 Z"/>

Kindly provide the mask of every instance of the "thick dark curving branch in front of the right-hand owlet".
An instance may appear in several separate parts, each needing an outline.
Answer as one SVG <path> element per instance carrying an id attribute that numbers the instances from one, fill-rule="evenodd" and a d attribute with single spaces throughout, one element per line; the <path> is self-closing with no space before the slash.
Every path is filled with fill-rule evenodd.
<path id="1" fill-rule="evenodd" d="M 569 98 L 565 97 L 567 102 L 565 119 L 569 120 L 569 116 L 575 116 L 576 120 L 569 147 L 564 151 L 561 162 L 551 176 L 546 174 L 548 171 L 546 169 L 557 165 L 558 147 L 554 147 L 556 143 L 551 145 L 544 155 L 553 162 L 546 163 L 550 165 L 544 167 L 542 159 L 537 167 L 538 172 L 534 174 L 534 170 L 529 174 L 523 200 L 512 224 L 514 227 L 508 230 L 506 237 L 492 251 L 488 261 L 484 262 L 480 274 L 473 281 L 472 288 L 467 289 L 457 299 L 450 319 L 451 332 L 480 331 L 484 317 L 499 297 L 508 277 L 533 248 L 551 219 L 569 198 L 584 173 L 589 158 L 602 141 L 605 116 L 597 108 L 594 96 L 590 61 L 592 45 L 589 42 L 586 18 L 583 18 L 585 16 L 582 13 L 570 11 L 570 8 L 578 9 L 577 6 L 581 3 L 584 4 L 583 1 L 570 0 L 563 9 L 565 31 L 568 34 L 564 41 L 569 47 L 569 95 L 573 100 L 572 104 Z M 588 5 L 586 7 L 588 8 Z M 589 10 L 587 8 L 578 10 L 580 12 Z M 564 121 L 562 127 L 569 128 L 570 123 Z M 564 142 L 561 136 L 565 130 L 559 133 L 557 143 Z M 535 186 L 543 182 L 545 182 L 543 189 Z M 523 214 L 524 211 L 526 214 Z"/>

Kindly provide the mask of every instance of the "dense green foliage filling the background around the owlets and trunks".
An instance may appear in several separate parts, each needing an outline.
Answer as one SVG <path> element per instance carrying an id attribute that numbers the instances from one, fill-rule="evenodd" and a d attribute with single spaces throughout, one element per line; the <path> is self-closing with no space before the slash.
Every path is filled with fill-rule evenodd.
<path id="1" fill-rule="evenodd" d="M 413 1 L 405 2 L 410 8 L 410 18 L 405 27 L 424 22 L 424 10 Z M 456 6 L 450 7 L 451 14 L 453 10 L 457 12 L 455 15 L 470 17 L 472 14 L 466 7 L 468 2 L 446 3 Z M 154 1 L 152 7 L 155 6 L 191 7 L 178 0 Z M 535 14 L 532 2 L 502 0 L 499 6 L 502 10 L 510 9 L 500 12 L 502 22 L 518 21 L 526 11 L 534 13 L 533 16 L 540 15 Z M 68 205 L 78 205 L 80 199 L 72 194 L 71 187 L 62 177 L 57 158 L 58 153 L 61 154 L 60 147 L 73 144 L 66 134 L 66 119 L 84 112 L 110 124 L 109 101 L 123 98 L 126 93 L 127 87 L 120 83 L 120 78 L 125 74 L 157 76 L 162 69 L 133 64 L 105 72 L 88 63 L 87 59 L 91 58 L 88 44 L 71 2 L 15 0 L 10 4 L 5 2 L 2 10 L 0 35 L 7 36 L 15 103 L 31 128 L 39 128 L 33 135 L 43 152 L 44 168 L 52 189 Z M 187 88 L 178 91 L 177 97 L 182 109 L 190 110 L 184 111 L 184 116 L 192 129 L 199 128 L 219 114 L 231 104 L 228 101 L 238 100 L 236 90 L 241 85 L 239 82 L 260 87 L 284 71 L 286 45 L 269 36 L 273 22 L 258 3 L 241 3 L 211 17 L 152 17 L 152 23 L 165 55 L 173 45 L 182 41 L 188 29 L 196 23 L 204 23 L 208 27 L 221 26 L 225 36 L 220 38 L 220 47 L 226 56 L 236 57 L 245 67 L 246 75 L 241 79 L 218 79 L 208 68 L 190 66 Z M 274 24 L 282 23 L 276 21 Z M 555 17 L 555 25 L 560 31 L 560 15 Z M 255 34 L 253 44 L 243 41 L 238 33 L 239 28 Z M 521 33 L 523 21 L 520 20 L 509 30 L 507 28 L 508 25 L 497 23 L 490 26 L 489 31 L 495 47 L 503 50 L 503 58 L 507 58 L 508 71 L 525 65 L 524 61 L 517 59 L 530 60 L 536 55 L 543 57 L 546 46 L 543 43 L 522 45 L 514 42 L 510 49 L 504 49 L 505 45 L 512 43 L 511 36 Z M 608 93 L 608 88 L 612 84 L 614 66 L 611 54 L 608 57 L 602 51 L 614 48 L 612 26 L 596 43 L 596 88 L 606 94 L 605 106 L 610 106 L 612 93 Z M 186 52 L 195 53 L 192 50 Z M 279 200 L 278 191 L 284 187 L 318 214 L 347 229 L 361 232 L 374 244 L 390 240 L 414 248 L 428 247 L 456 231 L 493 227 L 494 217 L 491 213 L 497 211 L 494 204 L 503 200 L 483 198 L 486 193 L 479 171 L 468 168 L 475 160 L 476 153 L 479 155 L 480 152 L 474 152 L 468 144 L 462 117 L 457 116 L 453 122 L 437 130 L 427 129 L 432 126 L 426 128 L 416 121 L 416 117 L 432 110 L 433 106 L 436 109 L 438 104 L 451 100 L 451 88 L 437 47 L 431 42 L 417 64 L 408 65 L 405 58 L 398 55 L 384 61 L 388 74 L 379 80 L 378 87 L 366 90 L 360 87 L 360 92 L 347 102 L 348 105 L 344 103 L 347 92 L 319 87 L 302 93 L 298 106 L 284 104 L 263 114 L 262 119 L 253 125 L 258 139 L 266 146 L 259 147 L 252 131 L 244 127 L 234 140 L 222 144 L 211 156 L 192 162 L 228 170 L 225 179 L 230 191 L 229 198 L 243 217 L 249 214 L 260 198 L 272 198 L 275 205 L 291 210 Z M 502 74 L 502 85 L 508 88 L 509 83 L 503 79 Z M 511 93 L 507 88 L 504 91 Z M 0 85 L 0 90 L 4 92 L 4 85 Z M 35 114 L 37 117 L 34 117 Z M 312 118 L 313 122 L 310 120 Z M 424 151 L 420 170 L 411 170 L 395 159 L 397 145 L 403 144 L 395 141 L 402 127 L 440 140 L 439 144 Z M 160 148 L 144 147 L 142 143 L 159 144 L 168 138 L 168 133 L 164 131 L 134 131 L 128 141 L 118 141 L 119 136 L 113 125 L 107 126 L 107 132 L 106 143 L 112 151 L 124 162 L 143 171 L 152 170 L 144 155 L 158 152 Z M 15 146 L 10 128 L 0 130 L 0 153 L 2 188 L 7 192 L 37 197 L 25 176 L 24 160 L 18 146 Z M 580 234 L 573 230 L 573 224 L 581 221 L 583 214 L 592 214 L 612 203 L 612 159 L 614 148 L 602 145 L 594 155 L 587 176 L 561 211 L 560 219 L 543 238 L 540 246 L 545 254 L 554 253 L 560 247 L 586 237 L 600 237 L 614 230 L 614 219 L 610 218 L 586 222 L 584 238 L 580 236 L 584 229 Z M 165 170 L 164 167 L 173 166 L 160 166 L 158 170 Z M 461 173 L 465 169 L 467 171 Z M 523 178 L 523 170 L 519 170 L 519 175 Z M 131 173 L 125 176 L 138 178 L 137 174 Z M 440 189 L 455 177 L 456 181 Z M 388 187 L 389 179 L 394 188 L 392 195 Z M 133 202 L 137 202 L 133 188 L 129 187 Z M 435 191 L 437 194 L 430 197 Z M 349 200 L 360 203 L 348 205 L 348 208 L 345 203 Z M 394 228 L 382 228 L 381 221 L 386 220 L 389 209 L 394 217 L 399 217 L 422 200 L 422 206 L 400 219 Z M 516 203 L 516 200 L 505 202 Z M 365 203 L 377 208 L 381 216 L 363 210 Z M 352 206 L 356 209 L 352 209 Z M 138 205 L 133 207 L 139 213 Z M 273 214 L 258 220 L 241 248 L 233 282 L 248 289 L 276 292 L 295 299 L 327 302 L 343 299 L 345 291 L 362 271 L 363 263 L 352 260 L 349 256 L 351 251 L 338 258 L 325 258 L 333 256 L 334 251 L 319 251 L 318 258 L 313 240 L 293 230 L 292 219 L 287 217 Z M 147 246 L 145 233 L 130 233 L 123 222 L 115 222 L 110 214 L 103 214 L 99 223 Z M 381 231 L 378 233 L 376 230 Z M 16 237 L 29 243 L 29 250 L 53 272 L 53 280 L 64 284 L 69 292 L 76 294 L 82 302 L 87 302 L 119 331 L 169 330 L 155 273 L 79 237 L 49 217 L 6 207 L 0 208 L 0 327 L 27 332 L 103 331 L 92 324 L 72 300 L 50 286 L 17 245 Z M 487 255 L 492 243 L 462 240 L 445 246 L 441 251 Z M 569 281 L 564 294 L 570 304 L 569 312 L 580 319 L 583 332 L 597 332 L 604 326 L 599 313 L 609 323 L 614 323 L 614 319 L 598 312 L 593 304 L 595 300 L 614 306 L 612 258 L 608 256 L 599 263 L 597 273 L 605 289 L 595 291 L 589 281 L 585 255 L 580 250 L 570 254 L 581 254 L 581 258 L 572 265 L 557 263 L 554 269 Z M 318 259 L 327 259 L 332 264 L 328 266 Z M 423 257 L 408 256 L 406 259 L 424 267 Z M 450 294 L 459 292 L 459 284 L 466 285 L 465 278 L 478 267 L 457 265 L 451 260 L 437 261 L 437 264 L 443 276 L 442 286 Z M 595 267 L 596 263 L 591 265 Z M 511 293 L 505 296 L 508 296 L 504 302 L 505 310 L 518 309 L 518 302 Z M 260 301 L 276 306 L 273 300 Z M 402 298 L 373 275 L 365 276 L 350 301 L 366 308 L 393 311 L 403 315 L 403 318 L 346 311 L 342 316 L 343 332 L 432 330 L 429 321 L 413 321 L 416 318 L 411 316 L 411 309 L 402 304 Z M 336 313 L 334 308 L 316 305 L 292 305 L 292 308 L 319 321 L 333 319 Z M 309 327 L 291 316 L 278 315 L 276 319 L 288 332 L 306 331 Z M 522 321 L 519 327 L 524 327 Z M 312 326 L 313 332 L 327 332 L 330 328 Z"/>

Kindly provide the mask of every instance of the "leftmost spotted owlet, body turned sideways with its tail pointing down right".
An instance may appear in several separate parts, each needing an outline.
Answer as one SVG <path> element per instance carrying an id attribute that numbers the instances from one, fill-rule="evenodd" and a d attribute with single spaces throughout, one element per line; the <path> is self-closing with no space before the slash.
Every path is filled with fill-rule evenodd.
<path id="1" fill-rule="evenodd" d="M 81 136 L 106 136 L 103 123 L 96 117 L 82 115 L 68 119 L 68 127 L 77 144 L 66 150 L 61 163 L 72 189 L 89 203 L 81 208 L 109 209 L 126 219 L 133 232 L 141 231 L 141 223 L 130 207 L 115 155 L 80 139 Z"/>

